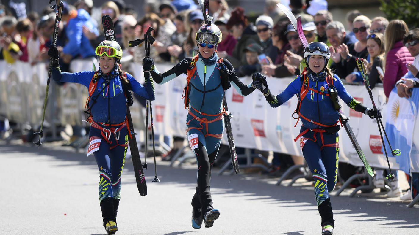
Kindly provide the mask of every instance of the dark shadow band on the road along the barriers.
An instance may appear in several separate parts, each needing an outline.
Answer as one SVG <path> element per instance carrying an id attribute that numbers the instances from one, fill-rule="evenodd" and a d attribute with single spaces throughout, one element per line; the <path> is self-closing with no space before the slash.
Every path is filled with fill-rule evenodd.
<path id="1" fill-rule="evenodd" d="M 16 157 L 25 153 L 52 156 L 54 157 L 53 161 L 66 161 L 62 166 L 68 166 L 68 161 L 73 161 L 74 165 L 91 165 L 96 167 L 96 161 L 93 156 L 86 157 L 85 153 L 75 153 L 72 148 L 67 147 L 42 146 L 41 148 L 36 148 L 36 146 L 31 147 L 29 145 L 3 145 L 0 146 L 0 149 L 2 153 L 16 152 Z M 152 165 L 153 162 L 150 161 L 149 164 Z M 154 169 L 154 167 L 149 166 L 149 170 L 145 173 L 149 181 L 147 183 L 154 184 L 151 183 L 151 179 L 154 178 L 154 171 L 151 169 Z M 132 161 L 127 160 L 124 166 L 125 177 L 122 176 L 124 185 L 136 184 L 132 171 Z M 178 168 L 158 164 L 157 173 L 161 180 L 159 184 L 179 184 L 180 187 L 195 187 L 196 169 L 181 169 L 181 171 L 182 174 L 178 174 Z M 253 179 L 249 180 L 246 178 Z M 279 204 L 281 207 L 316 206 L 312 186 L 287 187 L 266 186 L 266 184 L 266 181 L 263 181 L 258 176 L 252 177 L 244 174 L 236 176 L 217 176 L 213 174 L 211 179 L 212 194 L 233 194 L 231 197 L 252 196 L 252 199 L 249 200 L 261 200 L 264 203 L 271 204 L 272 207 L 275 207 L 276 204 Z M 257 198 L 254 199 L 255 197 Z M 347 218 L 356 217 L 358 219 L 356 221 L 391 220 L 391 222 L 383 224 L 386 227 L 419 228 L 417 207 L 407 208 L 406 202 L 383 200 L 385 199 L 377 198 L 374 194 L 357 194 L 357 197 L 354 198 L 345 196 L 331 197 L 333 209 L 336 211 L 334 212 L 335 214 L 344 215 Z M 171 232 L 166 235 L 179 235 L 189 232 L 191 231 Z M 301 232 L 285 232 L 283 234 L 300 235 Z"/>

